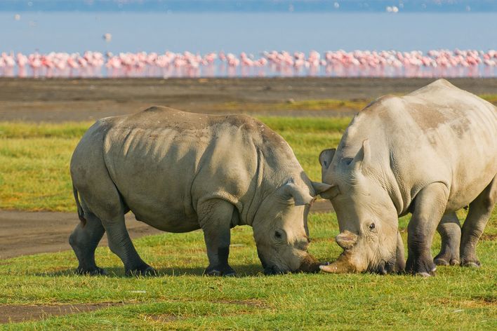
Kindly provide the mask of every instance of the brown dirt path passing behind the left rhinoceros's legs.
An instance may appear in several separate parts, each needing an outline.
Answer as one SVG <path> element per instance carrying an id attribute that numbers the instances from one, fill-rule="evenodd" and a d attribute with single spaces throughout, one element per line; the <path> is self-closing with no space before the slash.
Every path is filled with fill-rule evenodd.
<path id="1" fill-rule="evenodd" d="M 311 211 L 329 210 L 331 210 L 329 201 L 317 201 Z M 0 210 L 0 259 L 70 250 L 67 239 L 78 222 L 76 212 Z M 131 213 L 126 215 L 126 227 L 131 238 L 162 233 L 145 223 L 138 222 Z M 100 245 L 107 245 L 107 236 L 102 238 Z"/>

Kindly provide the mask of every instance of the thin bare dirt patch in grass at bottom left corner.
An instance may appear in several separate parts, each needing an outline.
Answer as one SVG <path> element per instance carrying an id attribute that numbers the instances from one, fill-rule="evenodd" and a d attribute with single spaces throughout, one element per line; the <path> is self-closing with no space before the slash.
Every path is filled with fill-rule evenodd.
<path id="1" fill-rule="evenodd" d="M 2 304 L 0 305 L 0 323 L 20 323 L 28 320 L 42 320 L 51 316 L 62 316 L 70 313 L 86 313 L 98 309 L 121 304 L 102 302 L 98 304 Z"/>

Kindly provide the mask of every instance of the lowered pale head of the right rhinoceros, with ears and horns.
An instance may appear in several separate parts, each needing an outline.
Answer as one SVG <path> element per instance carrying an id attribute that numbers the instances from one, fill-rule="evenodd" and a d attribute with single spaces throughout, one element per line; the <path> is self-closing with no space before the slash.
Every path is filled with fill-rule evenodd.
<path id="1" fill-rule="evenodd" d="M 333 160 L 335 151 L 319 156 L 323 181 L 331 188 L 322 196 L 329 198 L 338 218 L 340 234 L 336 243 L 343 253 L 336 262 L 321 266 L 331 273 L 390 273 L 404 269 L 404 245 L 398 232 L 397 210 L 381 177 L 369 167 L 369 141 L 357 155 Z"/>

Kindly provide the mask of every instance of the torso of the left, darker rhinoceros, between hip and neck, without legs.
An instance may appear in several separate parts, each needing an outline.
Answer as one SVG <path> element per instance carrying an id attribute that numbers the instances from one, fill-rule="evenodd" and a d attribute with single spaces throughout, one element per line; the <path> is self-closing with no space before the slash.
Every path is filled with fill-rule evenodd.
<path id="1" fill-rule="evenodd" d="M 254 195 L 258 122 L 152 107 L 114 120 L 104 140 L 112 182 L 137 219 L 164 231 L 199 228 L 197 203 Z"/>

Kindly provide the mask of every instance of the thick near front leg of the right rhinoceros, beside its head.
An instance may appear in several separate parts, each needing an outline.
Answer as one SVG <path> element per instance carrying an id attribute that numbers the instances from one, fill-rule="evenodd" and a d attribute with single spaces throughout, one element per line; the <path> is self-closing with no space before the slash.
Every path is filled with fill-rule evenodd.
<path id="1" fill-rule="evenodd" d="M 445 184 L 437 182 L 422 189 L 414 198 L 413 215 L 407 227 L 407 272 L 420 276 L 435 273 L 437 268 L 430 249 L 435 229 L 444 215 L 448 196 Z"/>

